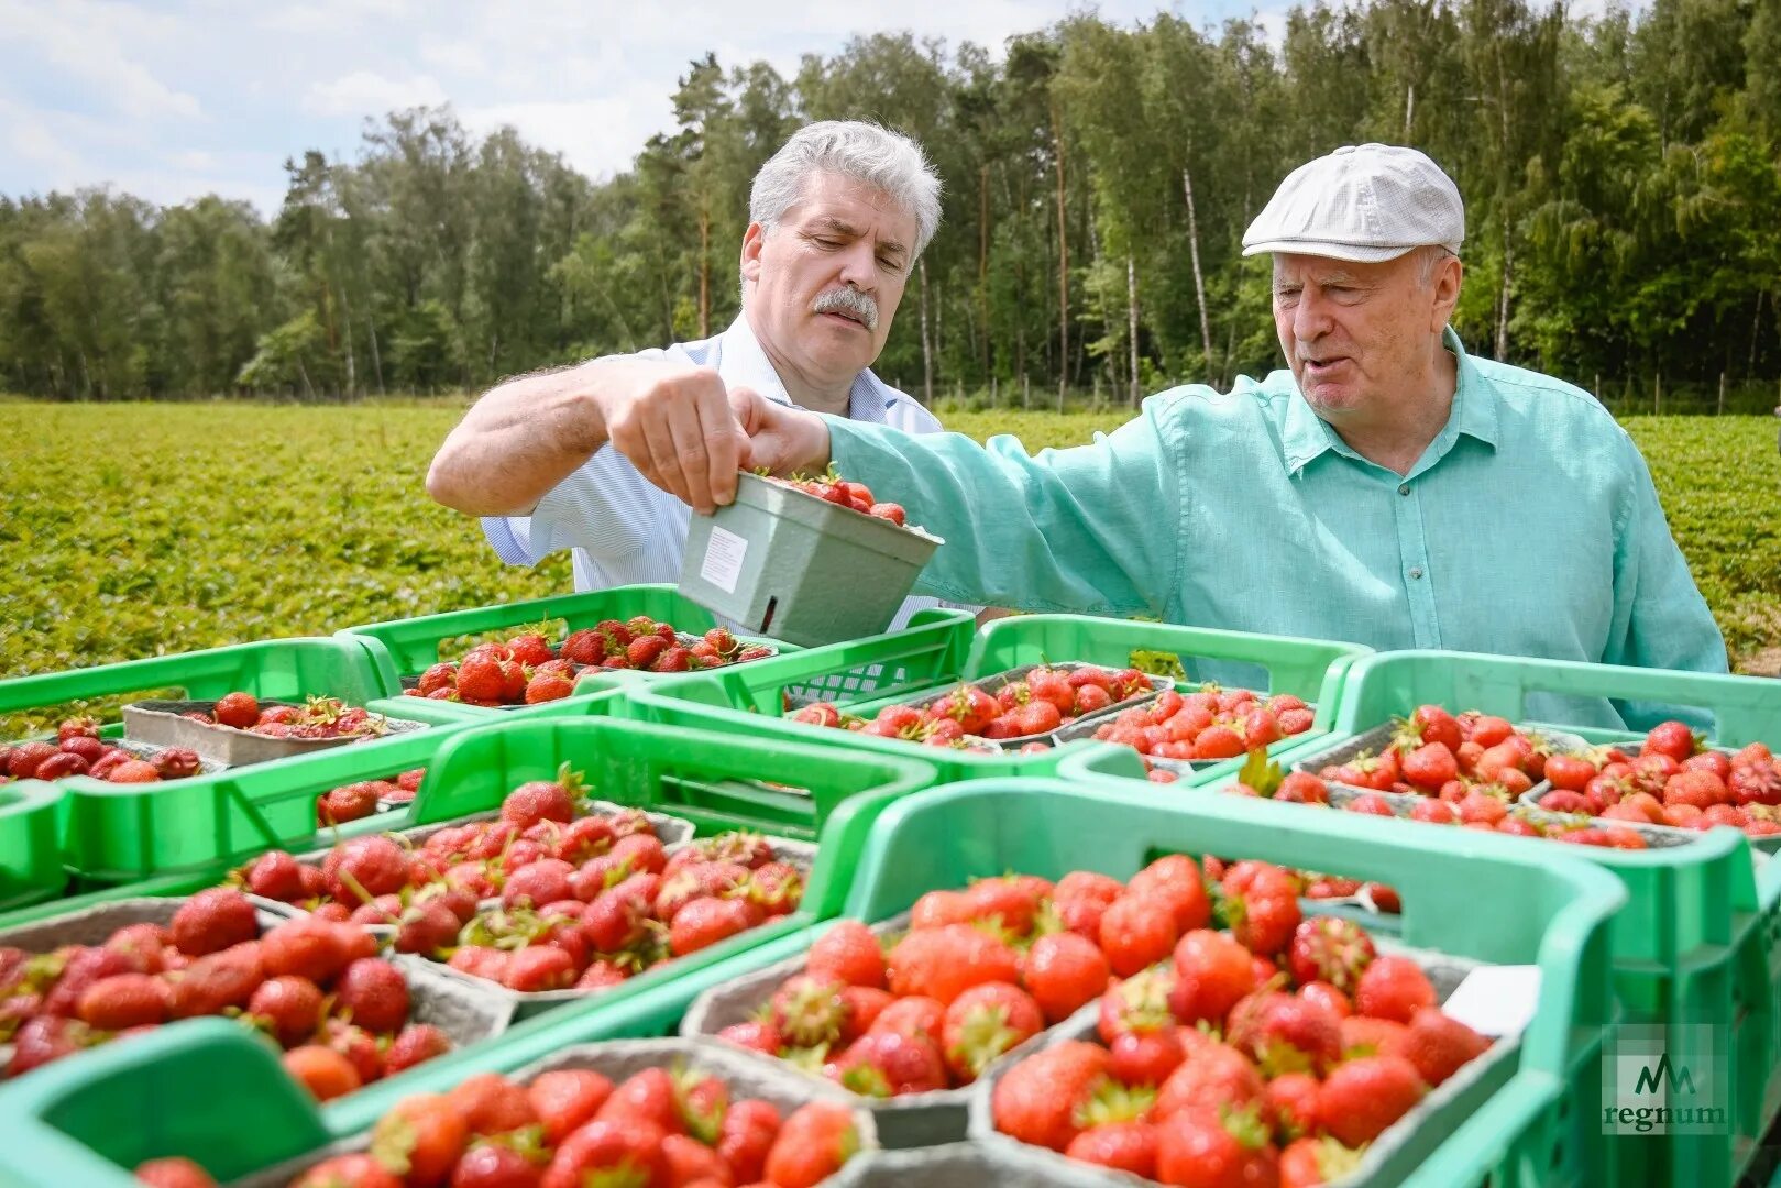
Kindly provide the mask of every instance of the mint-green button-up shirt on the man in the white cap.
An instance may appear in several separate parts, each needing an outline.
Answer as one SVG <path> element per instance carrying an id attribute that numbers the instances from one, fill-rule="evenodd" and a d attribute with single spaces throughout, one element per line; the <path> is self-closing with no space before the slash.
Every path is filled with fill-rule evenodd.
<path id="1" fill-rule="evenodd" d="M 1446 346 L 1453 410 L 1407 476 L 1352 451 L 1289 370 L 1152 395 L 1037 456 L 830 417 L 832 456 L 946 538 L 917 584 L 940 598 L 1726 671 L 1626 431 L 1580 388 Z"/>

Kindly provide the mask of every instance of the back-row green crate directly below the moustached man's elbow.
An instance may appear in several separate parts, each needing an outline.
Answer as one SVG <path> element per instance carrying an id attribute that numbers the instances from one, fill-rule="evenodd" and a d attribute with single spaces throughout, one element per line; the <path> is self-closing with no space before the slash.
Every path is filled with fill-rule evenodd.
<path id="1" fill-rule="evenodd" d="M 420 618 L 395 618 L 383 623 L 365 623 L 347 627 L 338 632 L 344 639 L 360 641 L 378 666 L 385 686 L 401 693 L 403 677 L 419 677 L 442 659 L 442 645 L 461 636 L 481 636 L 497 631 L 520 631 L 540 623 L 565 625 L 565 634 L 593 627 L 600 620 L 627 620 L 636 614 L 648 614 L 657 622 L 673 623 L 680 631 L 705 632 L 716 627 L 711 611 L 691 598 L 682 597 L 673 586 L 613 586 L 609 590 L 588 590 L 582 593 L 552 595 L 549 598 L 531 598 L 525 602 L 500 602 L 497 606 L 472 607 L 465 611 L 445 611 L 442 614 L 422 614 Z M 547 632 L 549 634 L 549 632 Z M 753 643 L 768 643 L 782 652 L 796 650 L 778 639 L 748 636 Z M 759 663 L 759 661 L 750 661 Z M 586 671 L 575 682 L 572 696 L 600 696 L 620 691 L 636 680 L 657 680 L 659 673 L 638 671 Z M 406 698 L 419 700 L 419 698 Z M 440 712 L 454 718 L 486 721 L 490 718 L 529 718 L 549 712 L 550 705 L 529 705 L 524 709 L 490 709 L 484 705 L 461 705 L 458 702 L 435 702 Z M 385 709 L 381 712 L 394 712 Z"/>

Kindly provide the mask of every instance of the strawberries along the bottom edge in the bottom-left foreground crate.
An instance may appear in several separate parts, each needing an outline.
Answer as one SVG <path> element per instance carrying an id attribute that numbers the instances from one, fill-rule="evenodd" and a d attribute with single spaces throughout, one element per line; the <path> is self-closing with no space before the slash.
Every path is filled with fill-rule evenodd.
<path id="1" fill-rule="evenodd" d="M 527 1085 L 477 1072 L 395 1103 L 369 1152 L 322 1160 L 290 1188 L 809 1188 L 858 1147 L 842 1106 L 809 1103 L 782 1119 L 773 1103 L 737 1099 L 721 1078 L 689 1069 L 645 1069 L 620 1085 L 593 1069 L 540 1072 Z M 137 1179 L 216 1188 L 191 1160 L 153 1160 Z"/>

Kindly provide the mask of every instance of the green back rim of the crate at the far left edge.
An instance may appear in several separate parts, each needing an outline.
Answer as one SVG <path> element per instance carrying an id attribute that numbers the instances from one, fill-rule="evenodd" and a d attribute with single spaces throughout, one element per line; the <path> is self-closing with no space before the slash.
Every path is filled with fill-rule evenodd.
<path id="1" fill-rule="evenodd" d="M 271 684 L 256 684 L 262 666 L 292 661 Z M 333 638 L 262 639 L 203 652 L 148 655 L 135 661 L 69 668 L 0 680 L 0 712 L 59 705 L 118 693 L 178 686 L 194 700 L 255 689 L 260 696 L 294 698 L 329 691 L 353 702 L 394 696 L 401 686 L 383 682 L 370 655 L 351 641 Z M 329 688 L 333 686 L 333 688 Z"/>

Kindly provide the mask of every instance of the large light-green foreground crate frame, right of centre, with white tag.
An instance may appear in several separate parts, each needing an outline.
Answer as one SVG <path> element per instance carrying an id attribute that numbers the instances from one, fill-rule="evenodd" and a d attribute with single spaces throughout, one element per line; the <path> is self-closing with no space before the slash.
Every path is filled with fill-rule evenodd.
<path id="1" fill-rule="evenodd" d="M 1336 814 L 1330 814 L 1332 818 Z M 1368 828 L 1377 825 L 1378 828 Z M 1587 1142 L 1601 1097 L 1599 1053 L 1610 1026 L 1608 919 L 1624 889 L 1587 862 L 1539 860 L 1510 839 L 1428 837 L 1407 823 L 1307 819 L 1289 805 L 1208 796 L 1191 812 L 1131 784 L 997 778 L 955 784 L 885 809 L 860 857 L 846 915 L 878 921 L 923 892 L 1004 871 L 1058 878 L 1095 869 L 1129 878 L 1158 853 L 1254 857 L 1338 867 L 1403 889 L 1403 939 L 1496 964 L 1541 967 L 1539 1008 L 1523 1033 L 1519 1067 L 1489 1099 L 1533 1104 L 1514 1127 L 1457 1122 L 1411 1140 L 1403 1160 L 1435 1160 L 1402 1183 L 1615 1183 L 1612 1152 Z M 1336 855 L 1336 857 L 1332 857 Z M 1478 912 L 1487 894 L 1496 910 Z M 1496 1117 L 1494 1113 L 1491 1115 Z"/>

